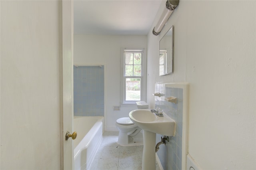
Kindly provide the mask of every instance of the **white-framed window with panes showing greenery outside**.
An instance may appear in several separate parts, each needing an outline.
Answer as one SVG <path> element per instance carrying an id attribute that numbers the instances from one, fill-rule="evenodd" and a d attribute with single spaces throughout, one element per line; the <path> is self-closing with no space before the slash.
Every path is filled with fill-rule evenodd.
<path id="1" fill-rule="evenodd" d="M 146 99 L 143 50 L 124 50 L 122 103 L 135 103 Z"/>

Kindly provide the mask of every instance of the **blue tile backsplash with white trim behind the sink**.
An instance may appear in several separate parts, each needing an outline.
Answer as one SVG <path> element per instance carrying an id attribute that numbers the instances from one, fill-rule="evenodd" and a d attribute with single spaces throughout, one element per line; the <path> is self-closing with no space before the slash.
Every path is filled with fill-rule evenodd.
<path id="1" fill-rule="evenodd" d="M 156 92 L 165 94 L 165 96 L 155 96 L 155 106 L 161 108 L 168 116 L 176 121 L 176 135 L 169 137 L 170 141 L 166 142 L 166 145 L 160 145 L 160 150 L 158 150 L 157 154 L 164 170 L 181 170 L 183 89 L 164 87 L 164 84 L 156 83 Z M 178 99 L 177 104 L 164 100 L 164 98 L 170 96 Z M 156 134 L 156 142 L 160 142 L 161 136 L 160 134 Z"/>

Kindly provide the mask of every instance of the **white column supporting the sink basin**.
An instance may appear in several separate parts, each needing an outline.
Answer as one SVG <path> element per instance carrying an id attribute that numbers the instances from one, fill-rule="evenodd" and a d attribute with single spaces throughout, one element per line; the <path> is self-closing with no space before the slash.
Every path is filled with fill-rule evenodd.
<path id="1" fill-rule="evenodd" d="M 142 170 L 156 170 L 156 133 L 143 131 Z"/>

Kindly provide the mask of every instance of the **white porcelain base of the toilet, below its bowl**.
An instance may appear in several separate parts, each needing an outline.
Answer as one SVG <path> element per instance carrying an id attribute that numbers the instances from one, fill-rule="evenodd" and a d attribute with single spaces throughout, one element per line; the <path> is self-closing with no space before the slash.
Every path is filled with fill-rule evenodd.
<path id="1" fill-rule="evenodd" d="M 126 133 L 119 131 L 117 144 L 121 146 L 139 146 L 143 145 L 143 134 L 142 131 L 135 136 L 127 136 Z"/>

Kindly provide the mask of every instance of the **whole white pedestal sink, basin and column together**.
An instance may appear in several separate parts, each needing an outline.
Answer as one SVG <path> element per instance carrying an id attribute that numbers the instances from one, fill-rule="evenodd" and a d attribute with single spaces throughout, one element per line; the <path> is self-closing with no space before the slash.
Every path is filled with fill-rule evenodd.
<path id="1" fill-rule="evenodd" d="M 166 136 L 175 134 L 175 121 L 163 114 L 163 117 L 159 117 L 150 109 L 138 109 L 129 113 L 132 122 L 143 131 L 142 170 L 156 169 L 156 133 Z"/>

